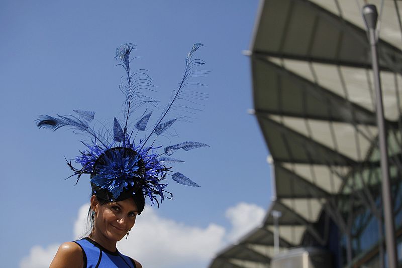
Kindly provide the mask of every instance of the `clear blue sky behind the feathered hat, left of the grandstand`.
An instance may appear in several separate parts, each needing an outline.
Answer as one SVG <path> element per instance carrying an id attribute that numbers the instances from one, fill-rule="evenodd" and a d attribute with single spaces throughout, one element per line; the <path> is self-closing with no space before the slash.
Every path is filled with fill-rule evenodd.
<path id="1" fill-rule="evenodd" d="M 252 108 L 251 70 L 241 53 L 249 48 L 257 7 L 257 0 L 2 1 L 2 265 L 19 267 L 33 246 L 74 239 L 73 225 L 89 200 L 90 186 L 87 177 L 76 186 L 73 178 L 63 180 L 71 174 L 64 156 L 73 158 L 83 149 L 80 137 L 68 129 L 37 129 L 34 119 L 72 109 L 93 110 L 101 120 L 121 115 L 123 70 L 115 66 L 114 56 L 125 42 L 137 44 L 133 55 L 141 58 L 133 66 L 149 70 L 162 105 L 181 78 L 193 43 L 205 44 L 196 56 L 210 71 L 199 80 L 208 87 L 196 88 L 208 94 L 204 111 L 191 123 L 176 125 L 178 138 L 161 140 L 211 146 L 174 155 L 186 161 L 175 170 L 201 187 L 172 181 L 174 199 L 149 209 L 150 215 L 204 231 L 215 224 L 224 228 L 227 239 L 220 243 L 225 243 L 236 225 L 230 215 L 247 214 L 237 204 L 268 207 L 268 150 L 256 118 L 247 114 Z M 229 210 L 229 215 L 234 207 L 239 210 Z M 199 258 L 197 265 L 205 266 L 206 259 Z"/>

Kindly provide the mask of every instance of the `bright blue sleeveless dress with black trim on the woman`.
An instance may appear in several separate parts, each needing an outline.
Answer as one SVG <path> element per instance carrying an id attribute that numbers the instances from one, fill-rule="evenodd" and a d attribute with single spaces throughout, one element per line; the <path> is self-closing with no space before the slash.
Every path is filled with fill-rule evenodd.
<path id="1" fill-rule="evenodd" d="M 82 249 L 84 268 L 136 268 L 134 260 L 129 256 L 119 250 L 112 252 L 89 237 L 74 242 Z"/>

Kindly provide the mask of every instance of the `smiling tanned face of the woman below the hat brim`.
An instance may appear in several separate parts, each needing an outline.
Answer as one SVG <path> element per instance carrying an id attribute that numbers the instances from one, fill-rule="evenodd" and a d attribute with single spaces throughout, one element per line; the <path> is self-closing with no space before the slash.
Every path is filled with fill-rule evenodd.
<path id="1" fill-rule="evenodd" d="M 96 200 L 95 196 L 92 198 Z M 96 205 L 92 207 L 95 211 L 95 231 L 107 239 L 120 241 L 134 226 L 138 214 L 136 204 L 131 198 L 104 205 L 100 205 L 97 201 L 95 203 Z"/>

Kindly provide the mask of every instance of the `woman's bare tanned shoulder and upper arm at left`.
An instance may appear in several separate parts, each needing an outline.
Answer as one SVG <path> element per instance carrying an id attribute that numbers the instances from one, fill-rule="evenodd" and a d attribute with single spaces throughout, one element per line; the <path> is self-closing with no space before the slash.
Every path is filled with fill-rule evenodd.
<path id="1" fill-rule="evenodd" d="M 49 268 L 82 268 L 83 266 L 81 247 L 74 242 L 65 242 L 59 246 Z"/>

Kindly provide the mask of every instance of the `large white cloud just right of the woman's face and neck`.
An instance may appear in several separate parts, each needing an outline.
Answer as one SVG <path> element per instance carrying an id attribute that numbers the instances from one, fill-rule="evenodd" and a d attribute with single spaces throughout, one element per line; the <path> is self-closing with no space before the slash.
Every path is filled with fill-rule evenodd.
<path id="1" fill-rule="evenodd" d="M 213 223 L 205 228 L 188 226 L 162 218 L 148 207 L 137 218 L 129 238 L 120 241 L 119 248 L 144 267 L 177 267 L 208 260 L 223 246 L 224 235 L 222 226 Z"/>

